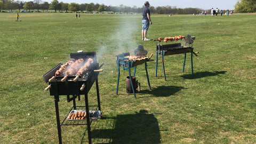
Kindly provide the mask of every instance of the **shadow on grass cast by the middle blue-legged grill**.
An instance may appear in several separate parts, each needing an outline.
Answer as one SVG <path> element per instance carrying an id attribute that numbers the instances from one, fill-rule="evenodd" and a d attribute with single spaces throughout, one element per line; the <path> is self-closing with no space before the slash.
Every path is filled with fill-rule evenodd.
<path id="1" fill-rule="evenodd" d="M 177 93 L 178 91 L 185 89 L 183 86 L 158 86 L 157 88 L 152 88 L 152 90 L 142 90 L 138 93 L 153 94 L 154 97 L 170 97 L 171 95 Z M 139 97 L 141 98 L 141 97 Z"/>

